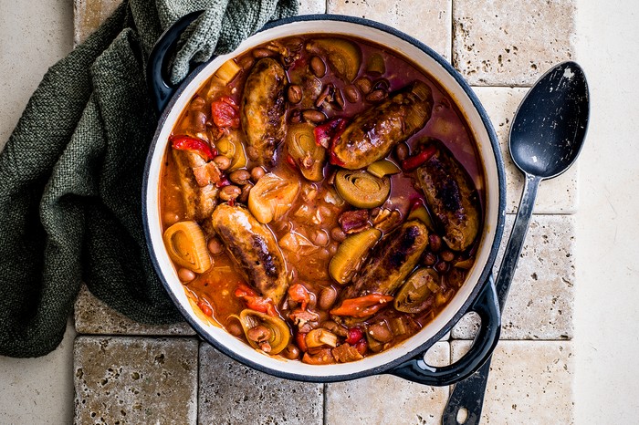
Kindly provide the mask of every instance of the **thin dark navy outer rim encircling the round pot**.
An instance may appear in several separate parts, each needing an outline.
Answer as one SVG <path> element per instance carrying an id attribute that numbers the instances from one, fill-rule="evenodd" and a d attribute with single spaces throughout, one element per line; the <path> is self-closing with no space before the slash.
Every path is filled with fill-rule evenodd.
<path id="1" fill-rule="evenodd" d="M 467 98 L 473 105 L 473 108 L 476 109 L 479 118 L 481 119 L 484 130 L 487 132 L 487 139 L 490 141 L 491 151 L 494 155 L 494 161 L 497 165 L 497 179 L 498 179 L 498 214 L 497 214 L 497 223 L 495 224 L 495 233 L 493 243 L 490 247 L 490 252 L 487 255 L 487 261 L 483 265 L 482 272 L 477 280 L 477 284 L 473 287 L 470 295 L 467 296 L 464 304 L 456 311 L 456 313 L 445 323 L 444 327 L 441 327 L 438 331 L 435 332 L 433 337 L 430 337 L 424 340 L 418 347 L 410 350 L 409 352 L 403 354 L 402 356 L 398 356 L 393 358 L 392 360 L 383 363 L 380 366 L 373 368 L 362 368 L 361 370 L 357 370 L 352 373 L 344 373 L 344 374 L 330 374 L 330 375 L 302 375 L 299 373 L 292 373 L 284 370 L 279 370 L 276 368 L 269 368 L 262 363 L 259 363 L 252 358 L 246 358 L 240 356 L 236 351 L 232 348 L 226 347 L 225 344 L 218 341 L 215 337 L 212 337 L 209 332 L 207 332 L 204 327 L 201 327 L 198 324 L 193 316 L 187 311 L 186 307 L 180 302 L 177 296 L 173 293 L 171 289 L 171 285 L 167 281 L 166 277 L 162 273 L 161 264 L 158 261 L 158 257 L 156 254 L 156 250 L 152 244 L 151 237 L 151 226 L 148 220 L 148 205 L 147 205 L 147 194 L 148 187 L 150 183 L 150 168 L 152 165 L 152 157 L 153 152 L 156 150 L 156 147 L 159 142 L 159 137 L 161 135 L 162 129 L 164 128 L 168 115 L 172 111 L 174 104 L 178 101 L 179 98 L 182 97 L 183 92 L 186 88 L 188 88 L 191 83 L 196 78 L 207 65 L 215 59 L 212 57 L 205 63 L 195 67 L 189 75 L 184 78 L 183 82 L 180 83 L 179 87 L 175 89 L 175 92 L 171 96 L 168 101 L 165 109 L 162 111 L 161 116 L 158 119 L 158 126 L 153 135 L 152 143 L 149 147 L 149 154 L 147 155 L 147 159 L 145 162 L 143 181 L 142 181 L 142 222 L 144 226 L 144 235 L 146 237 L 147 248 L 149 250 L 153 267 L 155 269 L 156 274 L 158 275 L 164 289 L 167 291 L 168 295 L 171 297 L 173 301 L 173 305 L 176 306 L 180 314 L 184 317 L 187 323 L 194 328 L 195 332 L 199 337 L 204 339 L 206 342 L 214 346 L 219 351 L 223 352 L 226 356 L 233 358 L 240 363 L 246 365 L 247 367 L 254 368 L 256 370 L 268 373 L 270 375 L 276 376 L 278 378 L 288 378 L 293 380 L 300 381 L 310 381 L 310 382 L 318 382 L 318 383 L 328 383 L 328 382 L 338 382 L 344 380 L 351 380 L 355 378 L 363 378 L 371 375 L 377 375 L 384 372 L 390 372 L 393 368 L 397 368 L 402 365 L 405 361 L 415 358 L 416 356 L 422 356 L 424 353 L 432 347 L 437 341 L 439 341 L 444 335 L 449 332 L 452 327 L 456 325 L 456 323 L 461 319 L 462 316 L 465 316 L 468 312 L 469 306 L 477 299 L 478 295 L 482 291 L 482 289 L 488 285 L 488 278 L 492 274 L 493 264 L 495 263 L 495 258 L 498 254 L 499 244 L 501 243 L 502 233 L 504 229 L 505 223 L 505 209 L 506 209 L 506 180 L 505 180 L 505 171 L 504 171 L 504 162 L 501 156 L 501 151 L 499 149 L 498 138 L 495 130 L 493 129 L 492 123 L 488 118 L 486 110 L 483 108 L 477 95 L 470 88 L 468 83 L 461 75 L 456 71 L 456 69 L 448 63 L 444 57 L 441 57 L 438 53 L 436 53 L 433 49 L 426 46 L 423 42 L 417 40 L 413 36 L 408 36 L 407 34 L 391 27 L 381 24 L 379 22 L 375 22 L 369 19 L 356 17 L 356 16 L 341 16 L 341 15 L 330 15 L 330 14 L 320 14 L 320 15 L 304 15 L 304 16 L 291 16 L 288 18 L 282 18 L 275 21 L 268 22 L 265 26 L 263 26 L 260 30 L 257 31 L 256 34 L 262 33 L 266 30 L 276 28 L 278 26 L 285 26 L 292 23 L 299 23 L 305 21 L 338 21 L 347 24 L 354 24 L 359 26 L 368 26 L 375 30 L 379 30 L 385 33 L 389 33 L 392 36 L 396 36 L 397 38 L 402 39 L 404 42 L 413 45 L 417 49 L 424 52 L 425 55 L 435 60 L 437 64 L 445 69 L 445 71 L 449 74 L 450 77 L 454 78 L 456 84 L 461 88 Z M 255 36 L 255 35 L 254 35 Z M 427 71 L 427 70 L 426 70 Z M 427 71 L 428 72 L 428 71 Z M 449 88 L 445 87 L 442 83 L 443 88 L 448 90 Z M 484 162 L 484 167 L 486 168 L 486 163 Z M 486 233 L 486 229 L 483 231 Z M 409 338 L 410 339 L 410 338 Z M 392 351 L 393 348 L 390 348 L 389 351 Z M 361 360 L 360 360 L 361 361 Z M 359 363 L 359 362 L 358 362 Z M 313 368 L 320 368 L 318 366 L 313 366 Z"/>

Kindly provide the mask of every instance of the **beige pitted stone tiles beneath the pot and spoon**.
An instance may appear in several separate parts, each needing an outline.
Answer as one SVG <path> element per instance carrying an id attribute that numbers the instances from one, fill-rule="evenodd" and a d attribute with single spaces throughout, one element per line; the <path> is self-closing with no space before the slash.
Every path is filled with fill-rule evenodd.
<path id="1" fill-rule="evenodd" d="M 76 0 L 75 40 L 84 39 L 117 3 Z M 508 161 L 509 123 L 526 87 L 573 56 L 571 0 L 533 0 L 519 7 L 505 0 L 479 5 L 470 0 L 300 0 L 300 11 L 378 20 L 452 58 L 498 131 L 507 159 L 508 213 L 516 212 L 522 185 Z M 575 225 L 568 214 L 577 211 L 577 172 L 539 189 L 539 215 L 508 298 L 506 340 L 491 365 L 482 423 L 573 421 Z M 141 326 L 86 289 L 76 304 L 75 326 L 80 334 L 74 347 L 78 423 L 436 424 L 450 390 L 391 376 L 327 385 L 273 378 L 225 358 L 184 324 Z M 463 320 L 449 341 L 435 344 L 428 360 L 446 364 L 458 358 L 473 327 L 472 318 Z"/>

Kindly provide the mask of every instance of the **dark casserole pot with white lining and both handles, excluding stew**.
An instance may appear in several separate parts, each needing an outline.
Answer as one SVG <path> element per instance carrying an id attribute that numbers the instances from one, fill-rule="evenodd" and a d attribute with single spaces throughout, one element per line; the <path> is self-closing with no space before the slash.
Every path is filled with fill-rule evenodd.
<path id="1" fill-rule="evenodd" d="M 390 373 L 427 385 L 450 385 L 471 375 L 481 367 L 497 345 L 500 314 L 491 270 L 498 252 L 504 225 L 505 181 L 503 162 L 486 111 L 456 70 L 444 58 L 411 36 L 369 20 L 350 16 L 296 16 L 267 24 L 256 35 L 246 39 L 236 51 L 214 57 L 195 68 L 179 87 L 166 83 L 165 63 L 183 29 L 199 13 L 184 16 L 167 30 L 152 52 L 148 76 L 152 95 L 161 111 L 158 128 L 152 140 L 144 172 L 142 208 L 145 235 L 152 263 L 173 302 L 186 321 L 205 341 L 231 358 L 281 378 L 313 382 L 333 382 L 361 378 L 373 374 Z M 309 365 L 295 360 L 269 357 L 233 337 L 222 327 L 200 319 L 190 306 L 162 242 L 159 181 L 162 157 L 176 120 L 188 102 L 215 70 L 226 60 L 271 39 L 299 34 L 331 34 L 355 36 L 411 58 L 456 99 L 466 115 L 470 130 L 477 141 L 486 181 L 486 200 L 483 233 L 477 249 L 476 262 L 466 282 L 445 309 L 435 319 L 397 346 L 351 363 Z M 445 367 L 432 367 L 424 362 L 424 353 L 441 339 L 467 312 L 474 311 L 481 318 L 475 342 L 466 356 Z"/>

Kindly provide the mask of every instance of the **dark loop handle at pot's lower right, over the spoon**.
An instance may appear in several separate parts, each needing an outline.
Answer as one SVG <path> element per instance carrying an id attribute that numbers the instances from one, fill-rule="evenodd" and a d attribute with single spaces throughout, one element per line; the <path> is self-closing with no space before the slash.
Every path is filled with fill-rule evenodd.
<path id="1" fill-rule="evenodd" d="M 434 367 L 426 364 L 424 352 L 405 361 L 388 373 L 420 384 L 435 386 L 455 384 L 475 373 L 490 358 L 499 340 L 501 314 L 492 275 L 488 277 L 487 285 L 484 285 L 479 296 L 467 311 L 476 312 L 481 318 L 481 324 L 473 346 L 464 357 L 452 365 Z"/>

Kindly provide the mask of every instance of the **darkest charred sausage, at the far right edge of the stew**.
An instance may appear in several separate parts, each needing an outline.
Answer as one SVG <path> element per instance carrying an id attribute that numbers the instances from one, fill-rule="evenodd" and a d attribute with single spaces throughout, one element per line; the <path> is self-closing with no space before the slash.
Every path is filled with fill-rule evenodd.
<path id="1" fill-rule="evenodd" d="M 475 185 L 464 167 L 440 140 L 429 138 L 435 154 L 415 171 L 428 209 L 444 231 L 443 239 L 455 251 L 473 244 L 481 211 Z"/>

